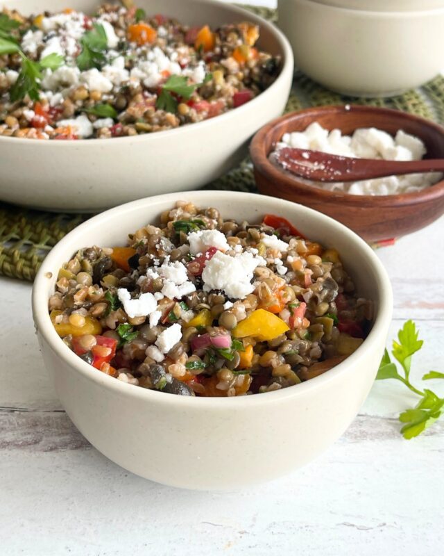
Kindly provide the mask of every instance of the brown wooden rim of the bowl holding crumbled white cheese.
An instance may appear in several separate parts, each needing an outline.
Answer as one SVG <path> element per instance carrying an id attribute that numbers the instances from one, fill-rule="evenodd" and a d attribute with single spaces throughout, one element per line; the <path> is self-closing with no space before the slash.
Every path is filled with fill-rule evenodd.
<path id="1" fill-rule="evenodd" d="M 250 143 L 250 157 L 253 161 L 255 170 L 260 174 L 264 174 L 267 179 L 274 181 L 282 181 L 288 188 L 298 193 L 309 193 L 316 194 L 319 200 L 327 201 L 328 199 L 334 201 L 340 201 L 347 205 L 368 205 L 369 203 L 375 206 L 386 207 L 386 206 L 408 206 L 411 204 L 420 204 L 422 202 L 429 202 L 434 199 L 439 199 L 444 195 L 444 178 L 441 181 L 437 181 L 432 186 L 428 186 L 420 191 L 414 191 L 411 193 L 399 193 L 396 195 L 352 195 L 351 193 L 345 193 L 342 191 L 330 191 L 323 188 L 317 188 L 302 181 L 299 181 L 298 177 L 293 177 L 292 174 L 286 172 L 284 168 L 280 168 L 278 165 L 274 165 L 268 159 L 271 152 L 266 152 L 265 142 L 266 137 L 274 131 L 274 129 L 283 122 L 297 120 L 298 117 L 302 115 L 312 115 L 312 122 L 316 122 L 316 115 L 320 113 L 333 113 L 333 114 L 343 114 L 358 112 L 358 113 L 368 113 L 375 112 L 385 115 L 387 118 L 393 116 L 399 117 L 401 120 L 413 120 L 420 123 L 422 126 L 427 126 L 434 129 L 441 136 L 444 137 L 444 127 L 432 122 L 431 120 L 426 120 L 423 117 L 413 115 L 410 113 L 405 113 L 398 110 L 393 110 L 391 108 L 379 108 L 377 106 L 366 106 L 360 104 L 345 104 L 345 105 L 333 105 L 333 106 L 316 106 L 312 108 L 305 108 L 301 111 L 295 111 L 288 114 L 284 114 L 268 124 L 264 125 Z M 358 129 L 358 128 L 357 128 Z M 401 129 L 401 128 L 400 128 Z M 444 153 L 443 153 L 444 158 Z"/>

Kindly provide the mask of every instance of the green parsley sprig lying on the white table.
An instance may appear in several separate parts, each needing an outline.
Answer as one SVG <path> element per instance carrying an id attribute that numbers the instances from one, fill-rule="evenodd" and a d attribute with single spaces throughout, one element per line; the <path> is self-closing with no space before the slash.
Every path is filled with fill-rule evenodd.
<path id="1" fill-rule="evenodd" d="M 398 342 L 393 340 L 393 357 L 400 363 L 402 374 L 398 373 L 398 367 L 391 360 L 388 351 L 385 350 L 382 361 L 377 372 L 377 380 L 395 379 L 405 384 L 409 390 L 420 396 L 416 407 L 402 411 L 399 416 L 403 426 L 401 433 L 404 439 L 412 439 L 421 434 L 427 427 L 433 425 L 444 411 L 444 398 L 439 398 L 436 393 L 429 389 L 419 390 L 411 384 L 409 375 L 411 368 L 411 357 L 422 347 L 422 340 L 418 340 L 418 330 L 412 320 L 407 320 L 398 332 Z M 423 380 L 444 379 L 444 373 L 431 370 L 426 373 Z"/>

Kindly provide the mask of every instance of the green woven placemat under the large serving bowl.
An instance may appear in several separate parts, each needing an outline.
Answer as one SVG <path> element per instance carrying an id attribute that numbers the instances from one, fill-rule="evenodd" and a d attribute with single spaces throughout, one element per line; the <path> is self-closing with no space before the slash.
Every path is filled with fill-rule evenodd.
<path id="1" fill-rule="evenodd" d="M 275 10 L 246 7 L 266 19 L 273 21 L 276 17 Z M 396 108 L 444 124 L 444 77 L 437 76 L 420 89 L 398 97 L 363 99 L 343 97 L 314 83 L 307 76 L 296 73 L 286 111 L 327 104 L 366 104 Z M 205 188 L 257 193 L 248 159 Z M 0 275 L 33 281 L 51 247 L 87 218 L 88 215 L 28 211 L 0 202 Z"/>

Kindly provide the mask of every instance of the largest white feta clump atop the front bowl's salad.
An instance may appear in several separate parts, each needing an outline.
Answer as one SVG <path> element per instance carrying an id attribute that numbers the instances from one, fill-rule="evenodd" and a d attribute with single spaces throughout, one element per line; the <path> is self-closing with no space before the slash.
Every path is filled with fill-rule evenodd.
<path id="1" fill-rule="evenodd" d="M 230 256 L 218 251 L 203 269 L 203 290 L 221 290 L 228 297 L 244 299 L 255 289 L 253 272 L 261 265 L 266 265 L 262 256 L 248 252 Z"/>

